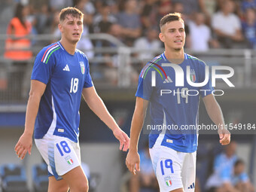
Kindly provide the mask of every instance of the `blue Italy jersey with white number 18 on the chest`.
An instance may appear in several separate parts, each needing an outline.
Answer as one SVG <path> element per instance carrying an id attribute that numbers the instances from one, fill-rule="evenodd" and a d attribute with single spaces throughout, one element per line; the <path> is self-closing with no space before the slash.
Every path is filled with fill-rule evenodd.
<path id="1" fill-rule="evenodd" d="M 60 42 L 50 44 L 36 56 L 31 79 L 47 85 L 35 120 L 35 139 L 50 133 L 78 142 L 81 93 L 93 86 L 87 57 L 80 50 L 69 54 Z"/>

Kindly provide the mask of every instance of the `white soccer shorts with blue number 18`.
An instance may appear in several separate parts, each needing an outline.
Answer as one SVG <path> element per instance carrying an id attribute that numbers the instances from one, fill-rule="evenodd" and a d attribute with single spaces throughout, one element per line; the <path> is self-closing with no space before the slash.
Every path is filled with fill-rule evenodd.
<path id="1" fill-rule="evenodd" d="M 81 165 L 79 143 L 60 136 L 44 136 L 35 139 L 35 145 L 48 165 L 48 172 L 57 180 L 77 166 Z"/>

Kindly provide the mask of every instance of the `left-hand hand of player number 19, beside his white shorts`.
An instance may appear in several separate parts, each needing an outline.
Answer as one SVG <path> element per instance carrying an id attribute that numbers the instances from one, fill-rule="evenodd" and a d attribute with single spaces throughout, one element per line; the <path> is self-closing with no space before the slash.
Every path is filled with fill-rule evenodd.
<path id="1" fill-rule="evenodd" d="M 137 151 L 129 151 L 126 156 L 126 166 L 133 175 L 136 175 L 136 172 L 140 171 L 139 168 L 139 154 Z"/>

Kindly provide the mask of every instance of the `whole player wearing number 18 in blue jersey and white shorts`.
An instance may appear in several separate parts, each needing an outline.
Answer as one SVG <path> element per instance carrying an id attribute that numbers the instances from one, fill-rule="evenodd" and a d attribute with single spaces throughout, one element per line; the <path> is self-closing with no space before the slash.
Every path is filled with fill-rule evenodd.
<path id="1" fill-rule="evenodd" d="M 83 32 L 83 17 L 77 8 L 62 9 L 61 40 L 44 47 L 36 56 L 25 130 L 15 146 L 20 159 L 27 152 L 31 154 L 35 129 L 35 144 L 48 165 L 49 192 L 88 191 L 78 142 L 81 95 L 113 131 L 120 150 L 126 151 L 130 144 L 129 137 L 120 130 L 93 87 L 87 56 L 76 49 Z"/>

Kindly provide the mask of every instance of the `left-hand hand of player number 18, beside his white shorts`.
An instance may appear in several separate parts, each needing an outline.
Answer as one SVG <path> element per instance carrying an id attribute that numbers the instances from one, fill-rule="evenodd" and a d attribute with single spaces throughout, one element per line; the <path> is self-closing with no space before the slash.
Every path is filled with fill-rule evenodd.
<path id="1" fill-rule="evenodd" d="M 14 150 L 16 151 L 17 157 L 19 157 L 20 160 L 23 160 L 27 152 L 31 154 L 31 149 L 32 149 L 32 136 L 29 136 L 28 134 L 23 133 L 23 135 L 20 136 L 20 139 L 14 148 Z"/>

